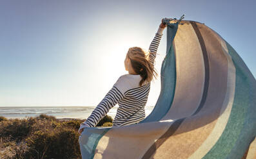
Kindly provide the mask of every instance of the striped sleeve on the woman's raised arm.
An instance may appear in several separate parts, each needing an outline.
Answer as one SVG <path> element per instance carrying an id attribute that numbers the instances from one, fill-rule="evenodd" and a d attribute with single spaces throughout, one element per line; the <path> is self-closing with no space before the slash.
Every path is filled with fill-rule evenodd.
<path id="1" fill-rule="evenodd" d="M 155 61 L 155 56 L 157 53 L 157 49 L 159 46 L 159 42 L 161 40 L 162 37 L 162 31 L 164 30 L 164 28 L 161 28 L 159 26 L 157 33 L 155 33 L 155 37 L 153 38 L 150 47 L 149 47 L 149 56 L 150 56 L 150 63 L 153 65 L 154 61 Z"/>

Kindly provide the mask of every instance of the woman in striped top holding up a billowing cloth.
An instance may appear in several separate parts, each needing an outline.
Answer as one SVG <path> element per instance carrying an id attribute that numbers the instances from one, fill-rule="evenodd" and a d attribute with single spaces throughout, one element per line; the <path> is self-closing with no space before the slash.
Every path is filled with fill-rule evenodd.
<path id="1" fill-rule="evenodd" d="M 161 22 L 148 52 L 141 49 L 141 47 L 130 47 L 128 49 L 124 60 L 124 67 L 128 74 L 124 74 L 117 79 L 90 117 L 80 124 L 79 133 L 82 133 L 84 128 L 95 127 L 117 103 L 119 107 L 113 119 L 113 126 L 137 124 L 145 118 L 144 106 L 148 101 L 150 82 L 153 76 L 157 76 L 153 66 L 155 54 L 162 37 L 162 31 L 166 26 Z"/>

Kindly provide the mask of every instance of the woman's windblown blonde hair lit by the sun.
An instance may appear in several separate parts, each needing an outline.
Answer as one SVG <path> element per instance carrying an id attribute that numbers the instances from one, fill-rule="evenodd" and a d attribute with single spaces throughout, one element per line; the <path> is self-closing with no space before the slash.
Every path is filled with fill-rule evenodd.
<path id="1" fill-rule="evenodd" d="M 143 79 L 139 85 L 143 85 L 144 81 L 152 81 L 153 77 L 157 77 L 157 71 L 150 62 L 150 52 L 141 47 L 130 47 L 126 54 L 132 63 L 132 67 L 137 74 L 140 74 Z"/>

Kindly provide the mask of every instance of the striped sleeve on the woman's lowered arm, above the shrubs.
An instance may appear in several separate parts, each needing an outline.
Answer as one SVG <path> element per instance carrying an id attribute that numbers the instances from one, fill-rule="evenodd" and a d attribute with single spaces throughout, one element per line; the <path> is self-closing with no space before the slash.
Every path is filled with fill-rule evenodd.
<path id="1" fill-rule="evenodd" d="M 124 98 L 123 92 L 126 91 L 123 90 L 124 85 L 126 85 L 126 81 L 123 79 L 123 76 L 121 76 L 117 79 L 113 87 L 108 91 L 99 105 L 96 106 L 86 121 L 80 124 L 80 128 L 95 127 L 109 110 Z"/>

